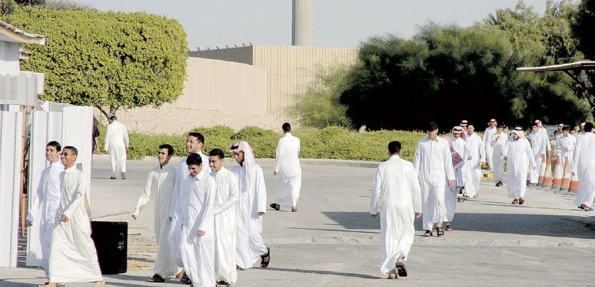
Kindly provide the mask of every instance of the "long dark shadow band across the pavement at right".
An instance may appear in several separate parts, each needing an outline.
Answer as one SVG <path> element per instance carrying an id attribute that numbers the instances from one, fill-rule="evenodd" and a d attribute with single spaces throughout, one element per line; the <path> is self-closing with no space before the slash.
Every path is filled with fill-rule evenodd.
<path id="1" fill-rule="evenodd" d="M 346 230 L 379 230 L 379 219 L 370 220 L 366 212 L 323 212 Z M 415 230 L 423 230 L 421 218 Z M 457 213 L 453 228 L 482 233 L 506 233 L 595 239 L 595 219 L 583 216 L 550 214 Z"/>

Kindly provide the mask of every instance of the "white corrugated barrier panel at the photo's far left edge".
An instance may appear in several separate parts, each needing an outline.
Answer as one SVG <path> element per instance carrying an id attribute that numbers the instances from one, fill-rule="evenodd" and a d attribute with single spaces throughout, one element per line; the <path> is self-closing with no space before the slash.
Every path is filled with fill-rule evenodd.
<path id="1" fill-rule="evenodd" d="M 0 267 L 17 267 L 22 113 L 0 112 Z"/>

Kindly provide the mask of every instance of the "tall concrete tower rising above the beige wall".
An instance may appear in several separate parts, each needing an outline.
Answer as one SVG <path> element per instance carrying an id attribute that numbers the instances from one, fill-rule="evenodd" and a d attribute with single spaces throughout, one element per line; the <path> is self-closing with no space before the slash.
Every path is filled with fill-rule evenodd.
<path id="1" fill-rule="evenodd" d="M 291 45 L 314 45 L 314 0 L 293 0 Z"/>

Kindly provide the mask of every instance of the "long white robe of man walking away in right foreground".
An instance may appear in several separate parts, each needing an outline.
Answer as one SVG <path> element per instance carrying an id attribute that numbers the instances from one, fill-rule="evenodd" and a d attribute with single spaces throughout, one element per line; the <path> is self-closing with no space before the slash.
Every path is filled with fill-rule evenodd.
<path id="1" fill-rule="evenodd" d="M 370 214 L 380 212 L 380 272 L 388 274 L 398 258 L 407 260 L 413 244 L 415 212 L 421 212 L 417 171 L 409 161 L 391 156 L 380 163 L 372 184 Z"/>

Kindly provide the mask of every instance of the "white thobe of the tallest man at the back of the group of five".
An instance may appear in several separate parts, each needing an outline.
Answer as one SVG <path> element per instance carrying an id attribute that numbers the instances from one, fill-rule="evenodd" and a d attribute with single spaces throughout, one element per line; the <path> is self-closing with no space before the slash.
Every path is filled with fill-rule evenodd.
<path id="1" fill-rule="evenodd" d="M 211 173 L 211 167 L 209 166 L 209 156 L 202 154 L 202 151 L 198 152 L 200 158 L 202 159 L 202 170 L 200 173 Z M 172 218 L 171 226 L 169 227 L 169 249 L 172 252 L 172 257 L 174 259 L 174 263 L 179 267 L 182 266 L 182 258 L 180 256 L 180 236 L 181 236 L 181 222 L 179 221 L 179 217 L 181 216 L 181 200 L 180 200 L 180 187 L 181 185 L 185 184 L 190 177 L 190 171 L 188 170 L 188 165 L 186 164 L 186 159 L 188 156 L 181 159 L 178 163 L 178 168 L 176 168 L 176 179 L 174 183 L 174 191 L 172 192 L 172 209 L 169 212 L 169 217 Z"/>

